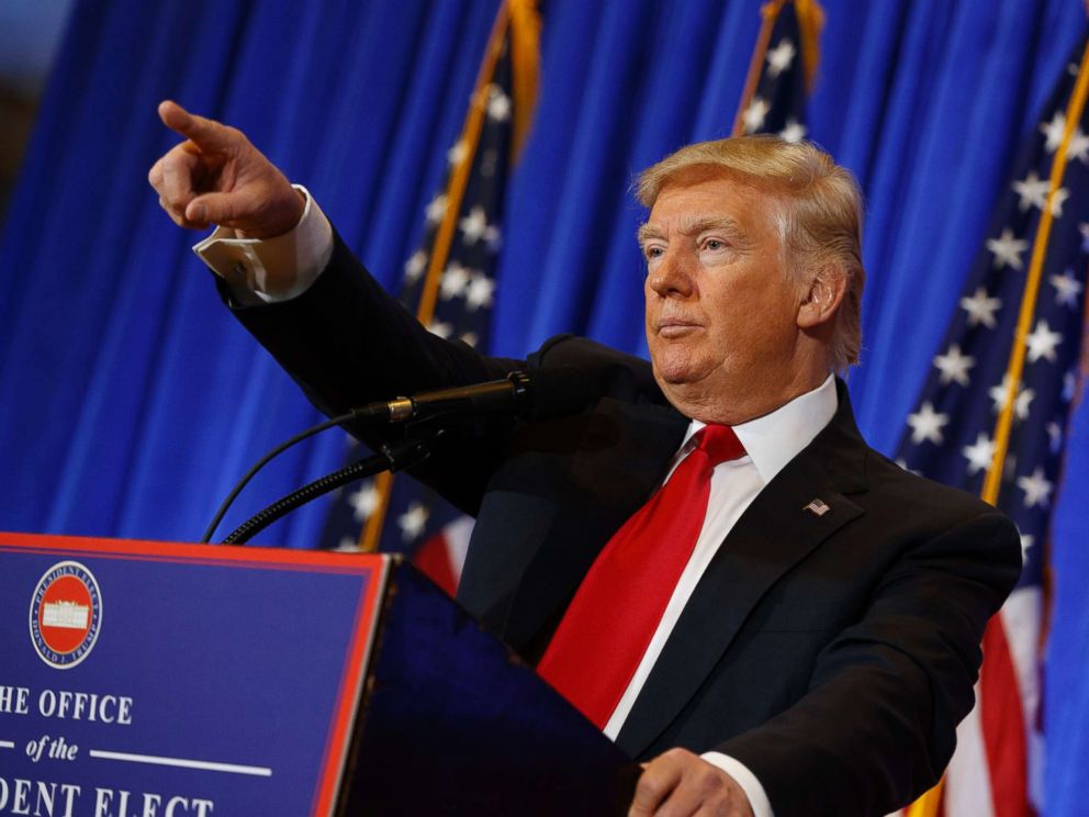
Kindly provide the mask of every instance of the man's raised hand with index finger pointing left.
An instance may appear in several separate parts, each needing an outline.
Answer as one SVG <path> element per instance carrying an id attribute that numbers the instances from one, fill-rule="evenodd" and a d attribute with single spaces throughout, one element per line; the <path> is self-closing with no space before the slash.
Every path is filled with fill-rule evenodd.
<path id="1" fill-rule="evenodd" d="M 147 175 L 175 223 L 193 230 L 218 224 L 243 238 L 271 238 L 299 223 L 302 193 L 242 131 L 169 101 L 159 104 L 159 119 L 186 137 Z"/>

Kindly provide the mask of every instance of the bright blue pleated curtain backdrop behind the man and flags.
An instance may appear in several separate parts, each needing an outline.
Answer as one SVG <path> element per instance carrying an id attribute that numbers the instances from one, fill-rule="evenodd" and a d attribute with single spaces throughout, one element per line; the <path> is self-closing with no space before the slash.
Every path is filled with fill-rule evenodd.
<path id="1" fill-rule="evenodd" d="M 0 243 L 0 528 L 192 540 L 314 411 L 220 305 L 198 236 L 145 178 L 173 98 L 246 131 L 395 289 L 456 139 L 496 0 L 77 3 Z M 493 350 L 557 332 L 640 351 L 635 172 L 725 135 L 757 0 L 549 0 L 514 177 Z M 1019 139 L 1085 27 L 1081 0 L 824 0 L 810 135 L 868 201 L 864 433 L 891 451 Z M 362 374 L 361 374 L 362 376 Z M 1057 510 L 1048 814 L 1089 794 L 1089 412 Z M 340 465 L 336 435 L 258 479 L 227 526 Z M 318 504 L 263 542 L 305 547 Z M 1075 706 L 1077 708 L 1069 708 Z M 1059 708 L 1062 707 L 1062 708 Z M 1065 765 L 1064 765 L 1065 764 Z"/>

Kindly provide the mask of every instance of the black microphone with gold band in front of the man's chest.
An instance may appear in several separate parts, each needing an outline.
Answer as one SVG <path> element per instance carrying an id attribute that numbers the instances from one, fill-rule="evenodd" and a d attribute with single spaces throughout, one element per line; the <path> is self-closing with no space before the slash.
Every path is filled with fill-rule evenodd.
<path id="1" fill-rule="evenodd" d="M 594 394 L 584 374 L 572 366 L 513 371 L 503 380 L 436 389 L 412 398 L 368 403 L 352 408 L 352 419 L 364 423 L 405 423 L 438 416 L 515 414 L 525 419 L 549 419 L 576 414 Z"/>

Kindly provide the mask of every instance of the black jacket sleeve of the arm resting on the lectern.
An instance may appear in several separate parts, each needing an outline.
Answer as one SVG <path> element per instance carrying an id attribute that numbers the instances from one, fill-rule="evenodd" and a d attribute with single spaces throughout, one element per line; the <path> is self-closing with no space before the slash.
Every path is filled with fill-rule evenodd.
<path id="1" fill-rule="evenodd" d="M 941 777 L 974 704 L 977 645 L 1020 572 L 1015 528 L 978 507 L 905 552 L 820 652 L 804 697 L 718 747 L 779 817 L 884 815 Z"/>

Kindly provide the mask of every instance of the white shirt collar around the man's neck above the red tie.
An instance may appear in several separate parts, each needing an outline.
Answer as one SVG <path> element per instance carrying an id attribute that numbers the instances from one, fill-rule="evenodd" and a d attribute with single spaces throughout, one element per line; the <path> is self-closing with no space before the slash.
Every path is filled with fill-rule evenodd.
<path id="1" fill-rule="evenodd" d="M 835 378 L 829 374 L 816 389 L 798 395 L 774 412 L 733 426 L 734 434 L 745 447 L 745 454 L 765 485 L 812 443 L 813 437 L 831 422 L 838 405 Z M 688 424 L 682 451 L 687 449 L 692 436 L 705 425 L 698 419 Z"/>

